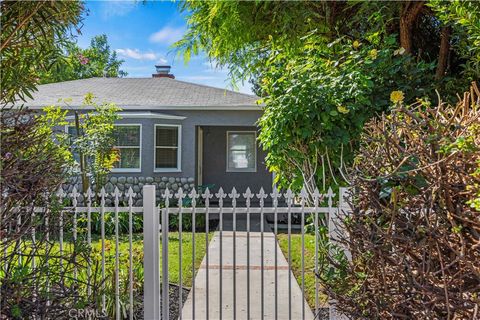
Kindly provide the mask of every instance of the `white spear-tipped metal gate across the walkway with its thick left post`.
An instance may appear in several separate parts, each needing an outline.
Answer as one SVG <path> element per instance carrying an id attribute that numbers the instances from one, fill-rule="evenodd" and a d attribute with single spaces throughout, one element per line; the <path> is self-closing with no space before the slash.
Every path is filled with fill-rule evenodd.
<path id="1" fill-rule="evenodd" d="M 165 201 L 165 208 L 160 210 L 160 214 L 154 205 L 155 202 L 155 186 L 144 186 L 144 317 L 145 319 L 169 319 L 170 303 L 177 303 L 179 315 L 178 319 L 313 319 L 316 315 L 312 314 L 310 307 L 305 301 L 305 222 L 308 217 L 309 221 L 313 223 L 313 232 L 318 235 L 319 228 L 323 225 L 328 225 L 329 235 L 333 240 L 336 238 L 335 234 L 338 232 L 336 219 L 338 219 L 339 211 L 348 210 L 348 205 L 345 202 L 344 196 L 347 194 L 347 189 L 340 188 L 338 207 L 334 207 L 335 194 L 332 189 L 329 189 L 326 194 L 321 194 L 315 191 L 311 198 L 305 190 L 299 194 L 287 190 L 284 194 L 274 190 L 271 194 L 266 194 L 263 189 L 258 193 L 253 193 L 249 188 L 244 193 L 238 192 L 235 188 L 231 192 L 224 192 L 222 188 L 218 193 L 212 194 L 208 189 L 199 194 L 193 190 L 186 194 L 179 189 L 177 192 L 166 190 L 162 195 Z M 188 206 L 185 206 L 184 199 L 191 199 Z M 239 199 L 244 202 L 239 205 Z M 212 200 L 216 200 L 212 205 Z M 226 200 L 229 200 L 228 202 Z M 256 200 L 253 204 L 253 200 Z M 268 201 L 270 200 L 270 201 Z M 170 207 L 174 202 L 176 205 Z M 282 203 L 283 202 L 283 203 Z M 311 205 L 307 205 L 310 203 Z M 322 204 L 325 204 L 322 206 Z M 342 209 L 342 210 L 339 210 Z M 168 241 L 169 241 L 169 217 L 177 216 L 179 221 L 178 233 L 179 241 L 182 242 L 182 220 L 185 215 L 191 216 L 192 225 L 196 225 L 196 217 L 204 215 L 206 221 L 210 221 L 212 215 L 218 218 L 218 227 L 214 234 L 214 239 L 209 238 L 209 223 L 205 224 L 203 231 L 206 238 L 206 253 L 203 263 L 199 270 L 195 270 L 195 265 L 192 263 L 192 274 L 195 275 L 195 282 L 191 287 L 187 305 L 184 305 L 182 294 L 179 294 L 178 301 L 169 301 L 169 260 L 168 260 Z M 228 232 L 224 230 L 224 217 L 230 215 L 233 219 L 231 230 Z M 236 225 L 239 217 L 246 218 L 246 230 L 240 232 Z M 252 217 L 259 216 L 260 230 L 253 233 L 251 231 Z M 272 230 L 265 225 L 265 217 L 270 216 L 273 219 Z M 279 217 L 286 218 L 286 236 L 288 239 L 288 251 L 286 254 L 287 265 L 279 265 L 279 253 L 277 236 L 279 234 Z M 292 261 L 292 217 L 296 216 L 300 220 L 301 236 L 301 272 L 297 275 L 297 279 L 291 270 Z M 159 229 L 158 226 L 162 227 Z M 257 230 L 258 231 L 258 230 Z M 195 228 L 192 228 L 192 255 L 195 257 Z M 198 233 L 198 231 L 197 231 Z M 265 247 L 266 238 L 273 234 L 273 257 L 266 257 L 266 254 L 272 255 L 272 248 Z M 160 268 L 160 242 L 161 239 L 161 268 Z M 242 242 L 246 247 L 238 247 L 238 242 Z M 258 240 L 260 242 L 260 257 L 255 256 L 255 260 L 260 264 L 252 264 L 252 239 L 255 241 L 255 246 L 258 247 Z M 269 243 L 272 242 L 269 240 Z M 227 246 L 227 248 L 225 248 Z M 254 247 L 255 247 L 254 246 Z M 314 270 L 318 274 L 318 236 L 315 236 L 315 256 L 314 256 Z M 270 250 L 268 250 L 270 249 Z M 242 252 L 239 252 L 242 250 Z M 257 250 L 254 250 L 258 254 Z M 226 253 L 230 254 L 230 259 L 226 258 Z M 182 292 L 182 260 L 183 252 L 182 246 L 179 246 L 179 292 Z M 240 256 L 245 263 L 238 261 Z M 212 259 L 214 264 L 210 262 Z M 310 257 L 311 259 L 311 257 Z M 229 261 L 226 261 L 229 260 Z M 280 259 L 282 260 L 282 259 Z M 266 265 L 266 261 L 273 262 L 273 265 Z M 161 270 L 161 276 L 160 276 Z M 239 272 L 246 273 L 246 283 L 239 283 Z M 266 282 L 265 274 L 269 275 L 273 270 L 273 281 Z M 279 288 L 282 283 L 279 280 L 279 270 L 286 270 L 287 272 L 287 287 Z M 312 271 L 312 270 L 311 270 Z M 256 298 L 252 300 L 252 272 L 260 273 L 260 283 L 255 282 L 257 288 L 255 291 Z M 213 273 L 213 274 L 212 274 Z M 226 276 L 229 274 L 230 276 Z M 201 279 L 199 279 L 201 278 Z M 258 278 L 258 274 L 255 277 Z M 242 278 L 245 280 L 245 277 Z M 197 282 L 199 284 L 197 284 Z M 227 282 L 227 283 L 226 283 Z M 296 285 L 300 287 L 300 294 L 295 295 Z M 201 288 L 199 288 L 201 286 Z M 225 290 L 227 288 L 228 290 Z M 284 292 L 286 289 L 288 292 Z M 315 306 L 314 312 L 318 312 L 320 308 L 319 302 L 319 283 L 315 278 Z M 270 295 L 266 298 L 266 292 Z M 239 299 L 239 293 L 246 294 L 245 297 Z M 299 295 L 301 297 L 299 297 Z M 270 299 L 273 296 L 273 301 Z M 293 303 L 292 303 L 293 297 Z M 212 302 L 214 299 L 214 302 Z M 228 300 L 228 303 L 223 302 Z M 300 302 L 301 309 L 299 310 L 298 303 Z M 200 305 L 199 305 L 200 304 Z M 331 303 L 331 305 L 333 305 Z M 266 311 L 266 307 L 270 308 L 270 313 Z M 212 310 L 213 309 L 213 310 Z M 239 310 L 241 309 L 241 310 Z M 283 311 L 280 311 L 282 309 Z M 331 308 L 332 309 L 332 308 Z M 273 310 L 273 311 L 272 311 Z M 334 309 L 330 310 L 330 319 L 338 318 L 335 315 Z"/>

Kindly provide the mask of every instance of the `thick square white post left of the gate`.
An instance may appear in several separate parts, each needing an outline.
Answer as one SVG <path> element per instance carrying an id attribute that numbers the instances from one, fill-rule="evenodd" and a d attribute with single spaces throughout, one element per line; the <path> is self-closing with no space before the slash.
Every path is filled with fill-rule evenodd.
<path id="1" fill-rule="evenodd" d="M 159 215 L 155 186 L 143 186 L 143 317 L 160 319 Z"/>

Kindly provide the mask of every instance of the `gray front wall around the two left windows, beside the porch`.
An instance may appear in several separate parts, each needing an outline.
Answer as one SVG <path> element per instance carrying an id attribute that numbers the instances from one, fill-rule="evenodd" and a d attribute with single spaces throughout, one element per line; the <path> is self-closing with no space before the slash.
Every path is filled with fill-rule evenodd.
<path id="1" fill-rule="evenodd" d="M 152 111 L 148 110 L 135 110 Z M 140 124 L 141 132 L 141 170 L 139 172 L 112 172 L 109 183 L 106 186 L 107 192 L 113 191 L 118 186 L 121 191 L 129 187 L 141 189 L 144 184 L 155 184 L 157 196 L 168 187 L 177 190 L 179 187 L 190 191 L 195 185 L 196 177 L 196 130 L 198 126 L 230 126 L 230 127 L 252 127 L 256 125 L 262 112 L 259 110 L 157 110 L 165 115 L 185 117 L 183 120 L 158 119 L 158 118 L 123 118 L 118 124 Z M 128 113 L 123 110 L 122 113 Z M 154 133 L 155 125 L 169 124 L 181 125 L 181 168 L 179 172 L 156 172 L 154 168 Z M 225 153 L 212 154 L 212 157 L 222 157 Z M 261 159 L 263 163 L 263 159 Z M 75 181 L 78 184 L 78 181 Z M 268 187 L 268 186 L 266 186 Z M 71 184 L 65 184 L 66 191 L 71 190 Z M 136 190 L 134 190 L 136 191 Z M 136 204 L 141 204 L 141 193 L 136 197 Z M 108 201 L 110 202 L 110 201 Z"/>

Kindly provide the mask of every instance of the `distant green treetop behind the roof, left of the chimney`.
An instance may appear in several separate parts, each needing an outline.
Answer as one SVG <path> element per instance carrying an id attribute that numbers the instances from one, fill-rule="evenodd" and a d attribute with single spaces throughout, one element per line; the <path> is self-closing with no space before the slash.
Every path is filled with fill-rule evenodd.
<path id="1" fill-rule="evenodd" d="M 106 35 L 92 38 L 90 47 L 80 48 L 71 42 L 66 46 L 64 57 L 40 76 L 41 83 L 61 82 L 91 77 L 125 77 L 127 73 L 120 70 L 124 60 L 110 49 Z"/>

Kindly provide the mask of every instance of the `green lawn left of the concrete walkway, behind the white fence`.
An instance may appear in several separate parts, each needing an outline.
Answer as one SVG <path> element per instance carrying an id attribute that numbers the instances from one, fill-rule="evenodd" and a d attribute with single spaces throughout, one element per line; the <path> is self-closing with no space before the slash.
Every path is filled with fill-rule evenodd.
<path id="1" fill-rule="evenodd" d="M 85 295 L 87 290 L 87 279 L 91 279 L 90 283 L 100 283 L 102 276 L 101 276 L 101 261 L 102 261 L 102 241 L 101 239 L 93 235 L 92 236 L 92 250 L 81 250 L 85 253 L 85 255 L 80 255 L 77 258 L 77 263 L 79 263 L 78 270 L 77 270 L 77 277 L 79 282 L 75 285 L 78 286 L 78 290 L 81 294 Z M 209 234 L 209 240 L 213 237 L 213 233 Z M 79 239 L 84 240 L 84 235 L 82 234 L 79 236 Z M 82 241 L 82 244 L 85 244 Z M 58 242 L 53 242 L 53 246 L 50 244 L 49 252 L 50 252 L 50 260 L 49 260 L 49 273 L 50 276 L 52 274 L 60 274 L 60 265 L 59 257 L 65 257 L 66 259 L 70 259 L 69 257 L 72 256 L 71 253 L 74 250 L 74 245 L 72 242 L 65 240 L 64 241 L 64 252 L 63 255 L 60 255 L 60 245 Z M 195 272 L 192 270 L 192 263 L 195 266 L 195 270 L 198 270 L 202 259 L 205 255 L 206 249 L 206 234 L 205 233 L 195 233 L 195 257 L 192 254 L 193 248 L 193 241 L 192 241 L 192 233 L 191 232 L 183 232 L 182 233 L 182 284 L 184 287 L 191 287 L 193 283 L 193 278 Z M 80 247 L 82 247 L 81 245 Z M 169 232 L 169 282 L 174 284 L 180 284 L 179 280 L 179 273 L 180 273 L 180 239 L 178 232 Z M 160 242 L 160 257 L 161 257 L 161 249 L 162 244 Z M 9 250 L 13 250 L 13 247 Z M 36 255 L 41 254 L 44 255 L 45 247 L 39 248 Z M 24 241 L 22 244 L 22 252 L 24 255 L 29 255 L 31 251 L 31 242 Z M 110 318 L 115 317 L 115 237 L 108 236 L 105 239 L 105 282 L 104 282 L 104 291 L 102 292 L 97 291 L 100 289 L 96 287 L 96 297 L 99 299 L 102 293 L 105 293 L 106 297 L 106 310 Z M 86 256 L 89 256 L 92 263 L 91 266 L 91 273 L 90 276 L 88 275 L 88 268 L 86 264 Z M 25 267 L 29 268 L 31 266 L 31 262 L 27 262 L 27 259 L 23 260 L 22 263 Z M 28 260 L 30 261 L 30 260 Z M 37 258 L 37 266 L 38 266 L 38 258 Z M 17 264 L 18 262 L 15 262 Z M 135 312 L 141 311 L 141 294 L 143 293 L 143 280 L 144 280 L 144 272 L 143 272 L 143 235 L 142 234 L 135 234 L 132 239 L 132 263 L 133 263 L 133 292 L 134 292 L 134 310 Z M 66 265 L 66 261 L 64 261 L 64 267 Z M 120 293 L 120 307 L 121 310 L 124 310 L 125 313 L 128 310 L 129 306 L 129 238 L 127 235 L 122 235 L 119 238 L 119 293 Z M 0 277 L 2 276 L 3 265 L 0 263 Z M 160 268 L 161 268 L 161 260 L 160 260 Z M 69 265 L 67 274 L 65 275 L 65 283 L 72 284 L 74 283 L 72 279 L 73 276 L 73 268 L 72 265 Z M 160 270 L 161 274 L 161 270 Z M 100 304 L 100 301 L 98 301 Z"/>

